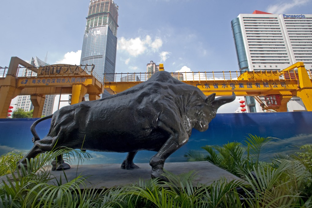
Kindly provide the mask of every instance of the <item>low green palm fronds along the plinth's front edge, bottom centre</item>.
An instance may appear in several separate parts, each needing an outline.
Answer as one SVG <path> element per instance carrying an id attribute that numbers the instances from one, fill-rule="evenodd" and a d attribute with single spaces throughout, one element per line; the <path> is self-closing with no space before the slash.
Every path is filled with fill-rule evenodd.
<path id="1" fill-rule="evenodd" d="M 173 175 L 165 171 L 168 182 L 151 179 L 130 186 L 121 193 L 127 207 L 242 207 L 236 187 L 242 181 L 214 181 L 211 185 L 193 184 L 194 171 Z M 124 200 L 126 199 L 126 200 Z"/>

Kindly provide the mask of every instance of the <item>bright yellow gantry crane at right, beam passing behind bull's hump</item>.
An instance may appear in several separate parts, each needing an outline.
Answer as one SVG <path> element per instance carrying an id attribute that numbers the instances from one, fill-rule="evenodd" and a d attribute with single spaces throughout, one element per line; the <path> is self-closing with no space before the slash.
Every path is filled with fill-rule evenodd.
<path id="1" fill-rule="evenodd" d="M 163 65 L 160 64 L 160 70 Z M 287 111 L 287 102 L 292 96 L 298 96 L 308 111 L 312 111 L 311 71 L 305 69 L 303 62 L 297 62 L 281 71 L 237 71 L 221 72 L 172 72 L 173 77 L 189 85 L 196 86 L 208 96 L 254 96 L 263 109 L 277 112 Z M 110 94 L 117 94 L 125 89 L 147 80 L 149 73 L 105 74 L 104 88 Z M 114 81 L 110 81 L 114 80 Z M 279 95 L 280 105 L 270 107 L 258 96 Z"/>

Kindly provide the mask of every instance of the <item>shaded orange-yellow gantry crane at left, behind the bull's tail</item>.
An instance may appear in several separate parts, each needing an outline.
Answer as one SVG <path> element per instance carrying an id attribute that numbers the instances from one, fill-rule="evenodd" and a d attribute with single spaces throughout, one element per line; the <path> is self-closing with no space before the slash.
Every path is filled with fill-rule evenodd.
<path id="1" fill-rule="evenodd" d="M 30 95 L 33 118 L 41 117 L 46 94 L 72 94 L 71 104 L 81 102 L 86 93 L 90 100 L 99 99 L 104 88 L 92 75 L 93 68 L 64 64 L 34 67 L 12 57 L 0 77 L 0 118 L 7 117 L 11 100 L 17 95 Z"/>

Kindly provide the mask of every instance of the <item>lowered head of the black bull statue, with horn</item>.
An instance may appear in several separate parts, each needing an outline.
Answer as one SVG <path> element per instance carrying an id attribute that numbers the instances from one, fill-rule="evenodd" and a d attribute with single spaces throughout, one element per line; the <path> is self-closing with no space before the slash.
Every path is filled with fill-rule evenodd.
<path id="1" fill-rule="evenodd" d="M 226 103 L 230 103 L 235 100 L 236 96 L 234 92 L 230 97 L 216 97 L 216 93 L 213 93 L 207 97 L 205 104 L 197 112 L 197 118 L 194 128 L 198 131 L 206 131 L 208 129 L 209 122 L 216 117 L 217 109 Z"/>

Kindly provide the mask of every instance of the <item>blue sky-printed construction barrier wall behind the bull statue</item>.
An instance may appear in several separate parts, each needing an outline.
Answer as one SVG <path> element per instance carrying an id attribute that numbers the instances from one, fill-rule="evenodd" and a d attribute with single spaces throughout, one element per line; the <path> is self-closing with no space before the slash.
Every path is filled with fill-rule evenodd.
<path id="1" fill-rule="evenodd" d="M 33 146 L 30 126 L 35 120 L 0 119 L 0 155 L 29 151 Z M 40 138 L 48 133 L 50 122 L 51 119 L 47 119 L 36 126 Z M 248 133 L 281 139 L 270 144 L 272 156 L 274 152 L 293 154 L 299 151 L 300 146 L 312 143 L 311 123 L 312 112 L 217 114 L 206 132 L 193 129 L 188 143 L 174 152 L 167 162 L 185 162 L 183 155 L 190 149 L 202 150 L 200 147 L 205 145 L 241 142 Z M 127 153 L 90 151 L 90 154 L 93 158 L 83 164 L 121 163 Z M 140 151 L 134 162 L 149 162 L 154 154 L 152 151 Z"/>

